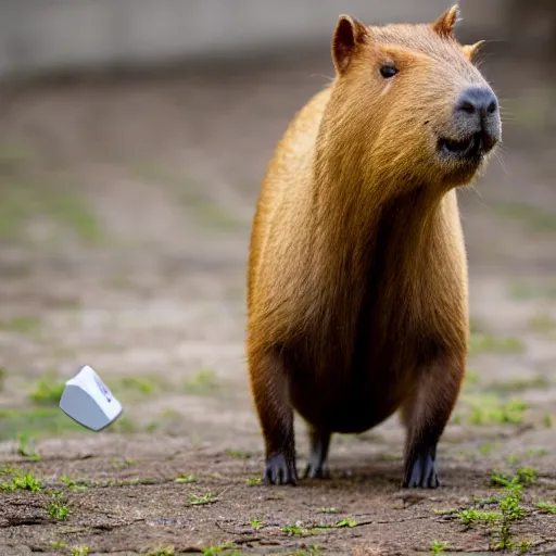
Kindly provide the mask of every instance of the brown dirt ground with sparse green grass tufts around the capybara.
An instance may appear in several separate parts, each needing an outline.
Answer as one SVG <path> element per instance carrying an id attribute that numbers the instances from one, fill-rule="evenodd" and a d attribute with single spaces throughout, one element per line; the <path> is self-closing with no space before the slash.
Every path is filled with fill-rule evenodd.
<path id="1" fill-rule="evenodd" d="M 502 54 L 505 147 L 460 195 L 472 338 L 441 489 L 400 489 L 396 417 L 336 437 L 330 481 L 260 483 L 250 224 L 327 54 L 0 91 L 2 556 L 556 554 L 556 92 Z M 56 406 L 85 364 L 125 408 L 101 433 Z"/>

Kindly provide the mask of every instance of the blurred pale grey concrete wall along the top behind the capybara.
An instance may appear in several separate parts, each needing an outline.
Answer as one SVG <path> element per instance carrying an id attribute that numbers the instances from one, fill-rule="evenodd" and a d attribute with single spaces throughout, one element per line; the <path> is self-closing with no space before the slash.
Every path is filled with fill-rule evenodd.
<path id="1" fill-rule="evenodd" d="M 243 55 L 329 40 L 340 13 L 431 21 L 454 0 L 0 0 L 0 77 Z M 488 31 L 504 0 L 462 0 Z"/>

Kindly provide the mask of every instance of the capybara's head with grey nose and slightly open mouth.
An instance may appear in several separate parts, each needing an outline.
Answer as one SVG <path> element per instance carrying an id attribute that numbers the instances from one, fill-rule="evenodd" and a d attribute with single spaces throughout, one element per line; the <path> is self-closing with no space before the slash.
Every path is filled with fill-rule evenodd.
<path id="1" fill-rule="evenodd" d="M 457 14 L 455 5 L 432 24 L 382 27 L 340 16 L 323 125 L 379 179 L 462 186 L 501 140 L 498 101 L 475 65 L 482 41 L 454 38 Z"/>

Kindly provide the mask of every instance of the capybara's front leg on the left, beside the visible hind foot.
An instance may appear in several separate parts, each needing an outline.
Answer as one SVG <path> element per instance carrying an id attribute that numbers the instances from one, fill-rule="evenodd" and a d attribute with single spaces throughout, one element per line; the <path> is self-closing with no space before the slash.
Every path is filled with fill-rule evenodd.
<path id="1" fill-rule="evenodd" d="M 293 407 L 279 355 L 250 353 L 251 388 L 266 445 L 266 484 L 296 484 Z"/>

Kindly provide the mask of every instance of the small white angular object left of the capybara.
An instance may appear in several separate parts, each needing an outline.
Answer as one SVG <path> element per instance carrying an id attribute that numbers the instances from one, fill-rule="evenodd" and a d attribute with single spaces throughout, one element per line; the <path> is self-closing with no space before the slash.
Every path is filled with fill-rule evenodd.
<path id="1" fill-rule="evenodd" d="M 89 365 L 65 383 L 60 408 L 79 425 L 99 431 L 114 422 L 122 404 Z"/>

